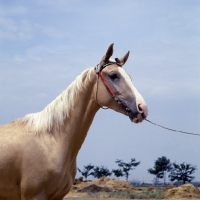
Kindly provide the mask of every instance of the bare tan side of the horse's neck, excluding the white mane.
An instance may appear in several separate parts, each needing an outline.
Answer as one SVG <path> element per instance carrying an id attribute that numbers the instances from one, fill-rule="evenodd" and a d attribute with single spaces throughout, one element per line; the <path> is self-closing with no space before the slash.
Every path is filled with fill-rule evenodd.
<path id="1" fill-rule="evenodd" d="M 70 149 L 72 157 L 76 156 L 81 148 L 93 118 L 99 109 L 94 97 L 95 81 L 96 75 L 93 72 L 83 80 L 83 90 L 77 93 L 69 117 L 64 119 L 62 126 L 63 141 L 65 141 L 68 150 Z"/>

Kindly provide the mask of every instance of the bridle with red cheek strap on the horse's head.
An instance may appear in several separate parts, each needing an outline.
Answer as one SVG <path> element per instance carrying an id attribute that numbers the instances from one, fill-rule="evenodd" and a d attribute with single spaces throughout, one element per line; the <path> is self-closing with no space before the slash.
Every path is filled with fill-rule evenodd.
<path id="1" fill-rule="evenodd" d="M 119 108 L 120 107 L 124 107 L 127 114 L 130 112 L 130 109 L 128 108 L 127 104 L 120 100 L 119 97 L 117 97 L 114 92 L 111 90 L 111 88 L 108 86 L 108 84 L 106 83 L 106 80 L 105 78 L 103 77 L 103 74 L 102 74 L 102 70 L 104 68 L 106 68 L 107 66 L 109 65 L 113 65 L 113 64 L 116 64 L 117 66 L 119 67 L 122 67 L 123 63 L 121 63 L 121 61 L 118 59 L 118 58 L 115 58 L 115 61 L 116 62 L 109 62 L 109 63 L 106 63 L 104 65 L 101 65 L 98 64 L 96 65 L 95 67 L 95 73 L 98 75 L 98 78 L 97 78 L 97 89 L 96 89 L 96 102 L 97 104 L 102 108 L 102 109 L 108 109 L 108 107 L 104 107 L 104 106 L 101 106 L 99 103 L 98 103 L 98 98 L 97 98 L 97 94 L 98 94 L 98 86 L 99 86 L 99 77 L 101 78 L 101 81 L 103 82 L 103 84 L 105 85 L 107 91 L 111 94 L 111 96 L 113 97 L 113 99 L 118 103 L 119 105 Z"/>

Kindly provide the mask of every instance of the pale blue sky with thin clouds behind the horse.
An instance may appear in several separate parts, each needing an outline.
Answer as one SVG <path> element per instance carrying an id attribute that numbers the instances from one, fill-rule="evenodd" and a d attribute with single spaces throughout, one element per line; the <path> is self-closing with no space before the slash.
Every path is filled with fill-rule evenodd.
<path id="1" fill-rule="evenodd" d="M 200 134 L 198 0 L 0 0 L 0 124 L 42 110 L 113 42 L 114 57 L 130 50 L 124 68 L 148 118 Z M 199 144 L 200 137 L 100 110 L 77 162 L 113 169 L 117 159 L 136 158 L 130 180 L 150 181 L 147 169 L 161 156 L 200 170 Z"/>

